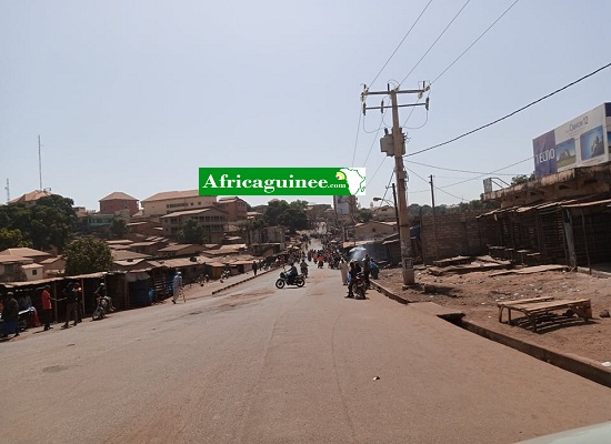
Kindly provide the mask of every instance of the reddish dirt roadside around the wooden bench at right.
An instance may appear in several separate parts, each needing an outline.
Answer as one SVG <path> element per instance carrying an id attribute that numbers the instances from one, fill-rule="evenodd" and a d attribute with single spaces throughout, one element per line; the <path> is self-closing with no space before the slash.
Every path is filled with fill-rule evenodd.
<path id="1" fill-rule="evenodd" d="M 465 320 L 521 341 L 601 364 L 611 361 L 611 319 L 600 316 L 604 310 L 611 311 L 611 279 L 569 271 L 529 274 L 474 271 L 442 275 L 434 275 L 433 271 L 417 270 L 417 285 L 407 290 L 402 290 L 400 269 L 382 270 L 374 282 L 409 302 L 434 302 L 460 310 Z M 507 324 L 507 314 L 499 322 L 498 302 L 538 296 L 589 297 L 593 319 L 584 322 L 557 312 L 542 317 L 537 332 L 532 332 L 520 312 L 512 312 L 513 325 Z"/>

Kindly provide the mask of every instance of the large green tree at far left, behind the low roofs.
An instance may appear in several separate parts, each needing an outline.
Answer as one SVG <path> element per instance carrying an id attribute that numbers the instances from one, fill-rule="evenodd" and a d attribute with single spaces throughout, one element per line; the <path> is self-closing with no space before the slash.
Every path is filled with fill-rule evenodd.
<path id="1" fill-rule="evenodd" d="M 72 199 L 52 194 L 39 199 L 32 206 L 4 205 L 0 208 L 0 222 L 8 230 L 19 230 L 34 249 L 56 246 L 61 251 L 77 224 L 72 204 Z"/>

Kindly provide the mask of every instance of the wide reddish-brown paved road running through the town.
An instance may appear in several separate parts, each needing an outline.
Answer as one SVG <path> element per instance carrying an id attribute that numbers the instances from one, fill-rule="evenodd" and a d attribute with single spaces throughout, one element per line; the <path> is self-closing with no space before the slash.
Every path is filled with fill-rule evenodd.
<path id="1" fill-rule="evenodd" d="M 0 442 L 512 443 L 611 420 L 611 392 L 337 271 L 0 344 Z M 199 293 L 199 297 L 196 297 Z"/>

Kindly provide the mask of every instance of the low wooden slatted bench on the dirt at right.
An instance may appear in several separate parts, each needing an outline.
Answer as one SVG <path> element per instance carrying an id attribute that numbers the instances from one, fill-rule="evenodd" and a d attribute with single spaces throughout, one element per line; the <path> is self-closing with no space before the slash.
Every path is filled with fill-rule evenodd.
<path id="1" fill-rule="evenodd" d="M 553 296 L 524 299 L 521 301 L 499 302 L 499 322 L 502 322 L 503 309 L 508 311 L 508 323 L 511 325 L 511 311 L 518 310 L 524 313 L 532 324 L 532 331 L 537 332 L 537 316 L 557 310 L 571 310 L 583 320 L 592 319 L 592 303 L 589 299 L 554 300 Z"/>

